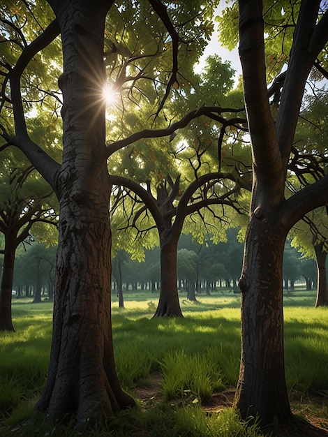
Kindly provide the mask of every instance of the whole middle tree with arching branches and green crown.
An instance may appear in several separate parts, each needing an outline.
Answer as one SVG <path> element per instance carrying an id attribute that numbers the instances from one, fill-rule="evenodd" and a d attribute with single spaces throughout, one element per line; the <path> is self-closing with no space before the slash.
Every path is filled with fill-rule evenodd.
<path id="1" fill-rule="evenodd" d="M 229 205 L 237 212 L 242 209 L 237 198 L 240 198 L 240 188 L 247 183 L 239 174 L 239 166 L 242 165 L 242 173 L 247 174 L 249 158 L 247 151 L 241 154 L 238 141 L 226 132 L 230 126 L 245 121 L 237 117 L 243 108 L 235 110 L 228 105 L 232 73 L 229 63 L 223 63 L 217 56 L 209 57 L 204 73 L 189 76 L 188 101 L 182 93 L 174 95 L 168 109 L 179 117 L 191 105 L 197 108 L 204 101 L 220 104 L 221 109 L 217 108 L 216 114 L 205 112 L 187 128 L 174 132 L 170 141 L 152 140 L 142 153 L 138 145 L 133 145 L 132 149 L 120 151 L 112 161 L 116 200 L 112 202 L 111 214 L 115 220 L 121 211 L 126 218 L 122 218 L 119 230 L 124 230 L 126 235 L 126 228 L 131 228 L 128 234 L 133 240 L 129 245 L 131 251 L 135 252 L 135 240 L 149 246 L 150 230 L 158 231 L 161 292 L 154 317 L 182 316 L 177 290 L 177 244 L 183 228 L 197 239 L 211 233 L 218 241 L 225 235 L 228 222 L 233 220 L 233 214 L 229 218 L 229 214 L 226 215 L 225 207 Z M 142 108 L 140 112 L 142 117 Z M 214 168 L 219 170 L 214 172 Z M 121 241 L 126 247 L 126 239 Z"/>

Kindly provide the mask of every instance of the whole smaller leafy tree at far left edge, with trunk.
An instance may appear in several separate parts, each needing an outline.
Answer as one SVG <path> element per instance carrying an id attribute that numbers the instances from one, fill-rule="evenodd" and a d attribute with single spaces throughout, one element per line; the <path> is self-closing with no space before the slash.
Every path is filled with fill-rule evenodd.
<path id="1" fill-rule="evenodd" d="M 36 175 L 33 167 L 24 166 L 21 154 L 14 157 L 7 151 L 1 162 L 0 177 L 0 232 L 4 236 L 0 330 L 13 331 L 11 297 L 17 246 L 33 239 L 32 230 L 35 236 L 53 242 L 57 237 L 57 230 L 52 229 L 58 223 L 54 210 L 57 202 L 51 188 Z"/>

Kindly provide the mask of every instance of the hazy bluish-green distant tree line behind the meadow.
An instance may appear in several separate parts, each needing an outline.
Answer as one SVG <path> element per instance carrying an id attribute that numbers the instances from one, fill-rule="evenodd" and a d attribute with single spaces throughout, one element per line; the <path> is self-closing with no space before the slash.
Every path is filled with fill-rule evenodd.
<path id="1" fill-rule="evenodd" d="M 205 239 L 203 244 L 191 235 L 181 235 L 178 246 L 177 272 L 179 292 L 187 299 L 196 295 L 209 295 L 216 290 L 239 292 L 238 280 L 243 260 L 243 244 L 237 239 L 238 229 L 229 229 L 227 241 L 214 244 Z M 53 299 L 54 265 L 57 246 L 47 247 L 43 242 L 33 242 L 20 248 L 14 273 L 13 297 L 33 297 L 33 302 Z M 301 255 L 297 249 L 285 244 L 283 260 L 283 287 L 285 292 L 295 290 L 295 282 L 301 281 L 306 290 L 317 287 L 315 260 Z M 144 262 L 132 260 L 124 250 L 117 251 L 113 258 L 113 292 L 121 297 L 127 290 L 160 289 L 160 248 L 145 251 Z"/>

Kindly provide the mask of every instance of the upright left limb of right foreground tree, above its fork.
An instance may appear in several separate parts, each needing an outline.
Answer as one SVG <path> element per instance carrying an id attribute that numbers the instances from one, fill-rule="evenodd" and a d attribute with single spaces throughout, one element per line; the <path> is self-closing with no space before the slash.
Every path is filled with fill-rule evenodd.
<path id="1" fill-rule="evenodd" d="M 239 40 L 254 172 L 264 180 L 278 179 L 281 156 L 269 106 L 261 0 L 239 0 Z"/>

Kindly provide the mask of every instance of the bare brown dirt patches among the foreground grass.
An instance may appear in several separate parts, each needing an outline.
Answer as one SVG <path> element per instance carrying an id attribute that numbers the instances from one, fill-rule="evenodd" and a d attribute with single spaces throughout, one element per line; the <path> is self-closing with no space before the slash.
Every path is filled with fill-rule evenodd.
<path id="1" fill-rule="evenodd" d="M 151 408 L 163 402 L 160 373 L 151 373 L 149 383 L 135 387 L 135 394 L 142 408 Z M 208 414 L 219 413 L 224 408 L 232 407 L 234 388 L 214 393 L 211 400 L 203 405 Z M 285 427 L 274 425 L 263 431 L 272 437 L 328 437 L 328 399 L 327 394 L 290 394 L 292 413 L 301 420 L 295 420 Z"/>

